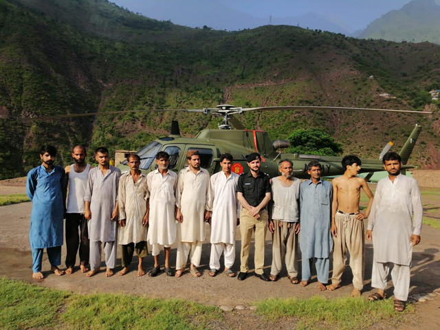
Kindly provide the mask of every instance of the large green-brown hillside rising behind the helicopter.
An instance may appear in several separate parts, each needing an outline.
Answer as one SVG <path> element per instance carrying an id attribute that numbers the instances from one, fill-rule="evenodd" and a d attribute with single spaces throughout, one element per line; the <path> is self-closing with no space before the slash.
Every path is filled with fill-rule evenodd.
<path id="1" fill-rule="evenodd" d="M 374 158 L 389 140 L 401 146 L 418 123 L 423 132 L 410 162 L 439 168 L 440 120 L 428 94 L 439 89 L 439 52 L 430 43 L 360 40 L 287 25 L 241 32 L 191 29 L 105 0 L 0 0 L 0 178 L 39 164 L 44 143 L 57 146 L 58 161 L 69 164 L 79 143 L 91 150 L 108 146 L 113 153 L 167 135 L 173 119 L 186 136 L 218 124 L 210 116 L 172 111 L 30 123 L 17 118 L 221 103 L 431 107 L 434 114 L 423 118 L 277 111 L 246 113 L 239 120 L 272 139 L 320 127 L 345 153 Z"/>

